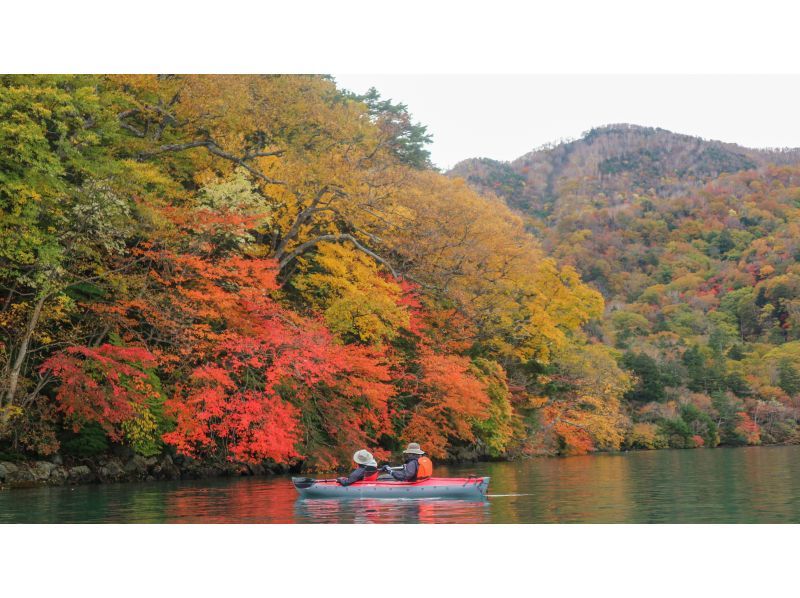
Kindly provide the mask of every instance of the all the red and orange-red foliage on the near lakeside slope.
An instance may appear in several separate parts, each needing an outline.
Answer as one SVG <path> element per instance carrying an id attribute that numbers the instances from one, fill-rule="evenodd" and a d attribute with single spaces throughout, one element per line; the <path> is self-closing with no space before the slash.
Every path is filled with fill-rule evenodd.
<path id="1" fill-rule="evenodd" d="M 489 398 L 469 359 L 453 354 L 474 334 L 462 316 L 431 314 L 416 285 L 404 282 L 401 302 L 411 314 L 413 348 L 401 354 L 387 353 L 391 347 L 342 345 L 320 321 L 276 300 L 273 260 L 220 252 L 204 237 L 208 230 L 193 237 L 191 219 L 178 211 L 167 217 L 186 234 L 133 250 L 145 264 L 142 290 L 94 307 L 125 342 L 152 347 L 148 367 L 158 357 L 170 395 L 166 411 L 176 422 L 165 442 L 207 458 L 303 459 L 307 467 L 328 469 L 348 463 L 356 448 L 388 457 L 380 448 L 387 435 L 425 442 L 434 456 L 445 455 L 451 439 L 474 440 L 472 425 L 488 417 Z M 225 221 L 202 224 L 217 230 Z M 80 368 L 78 358 L 71 359 L 52 365 L 74 377 Z M 132 377 L 129 368 L 116 371 Z M 82 384 L 73 384 L 81 388 L 74 395 L 60 391 L 65 411 L 105 418 L 112 427 L 131 416 L 130 404 L 143 400 L 139 395 L 146 396 L 114 387 L 110 394 L 120 405 L 108 415 L 108 409 L 92 407 L 104 394 L 91 394 L 99 382 L 85 377 Z M 392 401 L 404 385 L 410 406 Z M 394 414 L 399 429 L 392 427 L 390 409 L 410 409 Z"/>

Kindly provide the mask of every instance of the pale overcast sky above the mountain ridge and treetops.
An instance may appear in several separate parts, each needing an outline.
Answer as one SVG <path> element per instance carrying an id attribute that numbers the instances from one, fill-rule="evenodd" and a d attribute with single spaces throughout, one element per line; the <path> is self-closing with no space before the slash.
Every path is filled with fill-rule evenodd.
<path id="1" fill-rule="evenodd" d="M 408 104 L 441 168 L 513 160 L 598 125 L 632 123 L 748 147 L 800 146 L 797 75 L 335 75 Z"/>

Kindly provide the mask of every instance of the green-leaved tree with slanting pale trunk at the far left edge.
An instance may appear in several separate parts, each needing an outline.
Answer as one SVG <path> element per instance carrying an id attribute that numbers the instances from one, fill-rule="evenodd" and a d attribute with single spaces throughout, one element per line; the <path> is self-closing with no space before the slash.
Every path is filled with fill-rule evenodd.
<path id="1" fill-rule="evenodd" d="M 0 80 L 0 430 L 41 390 L 30 358 L 54 342 L 68 292 L 122 271 L 135 230 L 136 168 L 115 156 L 114 94 L 83 76 Z M 85 339 L 84 339 L 85 340 Z"/>

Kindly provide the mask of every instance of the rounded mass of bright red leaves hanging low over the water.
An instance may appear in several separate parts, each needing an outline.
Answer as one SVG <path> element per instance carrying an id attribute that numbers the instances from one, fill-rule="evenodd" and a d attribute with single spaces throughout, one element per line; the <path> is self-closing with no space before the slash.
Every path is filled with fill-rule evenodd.
<path id="1" fill-rule="evenodd" d="M 310 432 L 302 413 L 314 410 L 329 439 L 315 452 L 319 467 L 347 462 L 353 446 L 375 442 L 388 430 L 388 368 L 306 325 L 265 320 L 263 334 L 222 342 L 168 401 L 177 427 L 164 440 L 188 454 L 222 450 L 235 461 L 286 463 Z"/>

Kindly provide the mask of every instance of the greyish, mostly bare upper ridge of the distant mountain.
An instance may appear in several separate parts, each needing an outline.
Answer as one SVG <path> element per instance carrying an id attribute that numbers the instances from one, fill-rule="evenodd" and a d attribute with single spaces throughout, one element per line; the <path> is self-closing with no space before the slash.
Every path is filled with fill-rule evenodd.
<path id="1" fill-rule="evenodd" d="M 505 198 L 525 212 L 546 216 L 564 194 L 602 195 L 610 203 L 631 193 L 674 196 L 721 174 L 766 164 L 800 162 L 800 149 L 751 149 L 664 129 L 615 124 L 575 141 L 533 150 L 513 162 L 475 158 L 450 171 Z"/>

